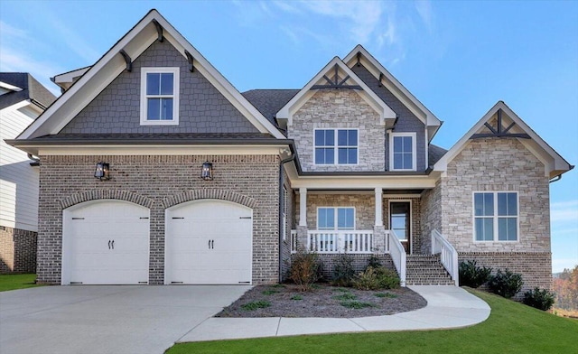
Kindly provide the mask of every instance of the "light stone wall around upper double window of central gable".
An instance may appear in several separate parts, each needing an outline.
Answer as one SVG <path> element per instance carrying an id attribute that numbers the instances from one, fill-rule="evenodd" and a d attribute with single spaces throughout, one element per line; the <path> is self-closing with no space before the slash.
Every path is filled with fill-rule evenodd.
<path id="1" fill-rule="evenodd" d="M 358 164 L 316 165 L 313 155 L 315 128 L 359 129 Z M 295 112 L 293 125 L 287 127 L 287 133 L 295 141 L 305 172 L 385 171 L 385 126 L 379 125 L 378 113 L 353 89 L 318 90 Z"/>

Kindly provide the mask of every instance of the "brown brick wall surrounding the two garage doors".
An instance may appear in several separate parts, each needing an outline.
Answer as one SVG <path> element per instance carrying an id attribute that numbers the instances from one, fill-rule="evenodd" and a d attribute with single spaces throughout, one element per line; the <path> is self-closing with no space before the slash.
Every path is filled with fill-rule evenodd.
<path id="1" fill-rule="evenodd" d="M 163 284 L 165 208 L 195 196 L 227 199 L 230 195 L 236 196 L 231 201 L 254 200 L 253 284 L 278 281 L 278 156 L 72 155 L 41 156 L 41 161 L 40 282 L 61 282 L 62 210 L 73 202 L 130 197 L 150 207 L 149 284 Z M 110 181 L 93 177 L 99 161 L 110 163 Z M 213 163 L 213 181 L 199 178 L 205 161 Z"/>

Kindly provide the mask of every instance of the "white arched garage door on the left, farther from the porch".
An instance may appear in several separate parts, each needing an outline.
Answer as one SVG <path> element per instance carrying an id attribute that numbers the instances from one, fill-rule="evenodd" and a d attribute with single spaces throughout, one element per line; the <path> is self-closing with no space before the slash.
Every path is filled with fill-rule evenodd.
<path id="1" fill-rule="evenodd" d="M 62 284 L 148 284 L 148 209 L 97 200 L 63 218 Z"/>

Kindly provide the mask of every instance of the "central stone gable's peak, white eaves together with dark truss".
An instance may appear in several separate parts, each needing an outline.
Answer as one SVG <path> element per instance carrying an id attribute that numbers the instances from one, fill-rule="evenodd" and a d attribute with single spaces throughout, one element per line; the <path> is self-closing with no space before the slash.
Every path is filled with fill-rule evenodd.
<path id="1" fill-rule="evenodd" d="M 277 112 L 276 118 L 279 126 L 283 128 L 292 126 L 294 113 L 303 107 L 319 89 L 353 89 L 378 112 L 379 123 L 382 126 L 391 127 L 396 122 L 396 112 L 381 98 L 378 98 L 340 58 L 335 57 Z"/>

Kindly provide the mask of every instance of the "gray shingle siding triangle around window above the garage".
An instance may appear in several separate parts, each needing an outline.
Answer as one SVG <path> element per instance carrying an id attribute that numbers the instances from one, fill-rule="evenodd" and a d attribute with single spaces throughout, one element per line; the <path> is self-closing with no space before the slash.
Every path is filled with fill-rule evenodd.
<path id="1" fill-rule="evenodd" d="M 143 67 L 179 67 L 178 126 L 140 125 L 140 84 Z M 61 134 L 113 133 L 258 133 L 245 116 L 168 41 L 154 42 L 65 126 Z"/>

